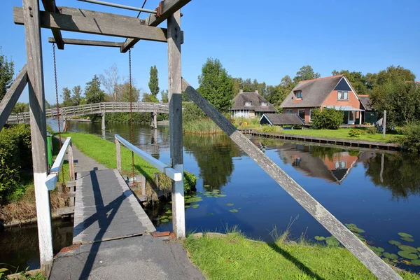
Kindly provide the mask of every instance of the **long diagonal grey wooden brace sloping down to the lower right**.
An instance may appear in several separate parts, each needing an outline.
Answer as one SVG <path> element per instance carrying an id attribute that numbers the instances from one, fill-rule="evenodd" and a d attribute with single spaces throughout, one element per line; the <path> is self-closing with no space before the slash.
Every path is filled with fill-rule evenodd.
<path id="1" fill-rule="evenodd" d="M 204 97 L 194 90 L 185 80 L 183 80 L 183 88 L 186 90 L 187 96 L 197 106 L 204 111 L 204 113 L 211 118 L 211 120 L 221 127 L 221 129 L 228 134 L 230 139 L 247 153 L 269 176 L 276 181 L 281 188 L 293 197 L 306 211 L 309 212 L 316 221 L 321 223 L 323 227 L 328 230 L 334 237 L 337 238 L 353 255 L 363 262 L 374 275 L 379 279 L 402 279 L 390 266 L 388 266 L 381 258 L 379 258 L 370 248 L 368 248 L 362 241 L 353 235 L 353 233 L 346 228 L 340 221 L 335 218 L 327 209 L 325 209 L 318 201 L 311 197 L 306 190 L 304 190 L 298 183 L 286 174 L 278 165 L 270 160 L 265 153 L 255 146 L 251 140 L 246 138 L 244 134 L 239 132 L 237 128 L 230 123 L 217 109 L 214 108 Z M 173 203 L 172 203 L 173 204 Z"/>

